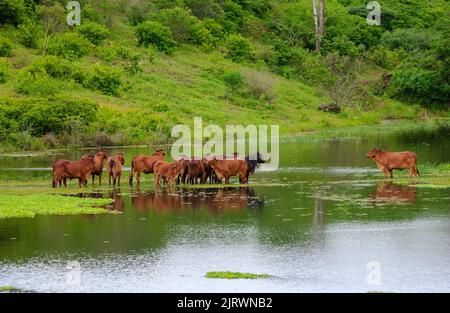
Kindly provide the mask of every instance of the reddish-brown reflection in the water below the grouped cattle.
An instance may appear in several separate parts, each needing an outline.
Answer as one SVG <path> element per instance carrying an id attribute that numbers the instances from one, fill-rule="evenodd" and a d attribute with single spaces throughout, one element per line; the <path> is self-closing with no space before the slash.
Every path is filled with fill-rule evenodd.
<path id="1" fill-rule="evenodd" d="M 170 193 L 166 190 L 136 193 L 133 207 L 139 211 L 174 212 L 185 209 L 208 209 L 210 213 L 260 209 L 264 200 L 258 198 L 251 187 L 207 188 Z"/>

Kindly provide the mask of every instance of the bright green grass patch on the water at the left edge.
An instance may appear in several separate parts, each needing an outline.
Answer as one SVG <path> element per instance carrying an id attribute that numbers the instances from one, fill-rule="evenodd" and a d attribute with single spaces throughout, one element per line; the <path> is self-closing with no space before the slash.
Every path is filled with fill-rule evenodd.
<path id="1" fill-rule="evenodd" d="M 111 199 L 90 199 L 62 195 L 29 194 L 0 195 L 0 219 L 13 217 L 34 217 L 39 215 L 103 214 L 101 208 Z"/>

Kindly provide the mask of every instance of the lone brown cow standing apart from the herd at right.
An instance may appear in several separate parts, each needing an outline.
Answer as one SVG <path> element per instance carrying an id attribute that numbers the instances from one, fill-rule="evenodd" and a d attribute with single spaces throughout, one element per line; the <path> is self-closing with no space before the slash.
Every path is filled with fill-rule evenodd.
<path id="1" fill-rule="evenodd" d="M 409 169 L 409 176 L 418 176 L 417 156 L 414 152 L 388 152 L 373 148 L 367 153 L 367 157 L 374 159 L 384 177 L 393 177 L 393 170 Z"/>

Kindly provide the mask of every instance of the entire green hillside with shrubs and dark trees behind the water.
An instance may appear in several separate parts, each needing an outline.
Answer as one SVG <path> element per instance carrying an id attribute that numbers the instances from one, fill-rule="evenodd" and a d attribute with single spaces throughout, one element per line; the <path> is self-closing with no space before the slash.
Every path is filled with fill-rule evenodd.
<path id="1" fill-rule="evenodd" d="M 0 0 L 2 150 L 167 140 L 177 123 L 285 134 L 448 115 L 450 4 L 326 0 Z M 338 114 L 318 111 L 322 103 Z"/>

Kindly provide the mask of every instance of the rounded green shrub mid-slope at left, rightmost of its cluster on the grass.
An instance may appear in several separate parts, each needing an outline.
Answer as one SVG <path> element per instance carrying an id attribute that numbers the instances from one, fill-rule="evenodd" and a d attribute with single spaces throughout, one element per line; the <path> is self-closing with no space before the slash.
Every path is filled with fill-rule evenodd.
<path id="1" fill-rule="evenodd" d="M 111 67 L 99 65 L 85 81 L 85 87 L 99 90 L 105 95 L 117 96 L 122 87 L 122 75 Z"/>

